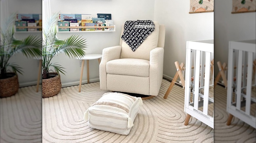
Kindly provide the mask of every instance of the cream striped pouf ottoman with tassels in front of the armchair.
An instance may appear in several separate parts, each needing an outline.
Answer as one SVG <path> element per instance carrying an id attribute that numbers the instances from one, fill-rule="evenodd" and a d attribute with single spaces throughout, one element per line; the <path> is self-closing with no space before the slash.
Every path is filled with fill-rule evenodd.
<path id="1" fill-rule="evenodd" d="M 88 120 L 89 127 L 128 135 L 142 104 L 140 97 L 117 92 L 105 93 L 88 108 L 84 119 Z"/>

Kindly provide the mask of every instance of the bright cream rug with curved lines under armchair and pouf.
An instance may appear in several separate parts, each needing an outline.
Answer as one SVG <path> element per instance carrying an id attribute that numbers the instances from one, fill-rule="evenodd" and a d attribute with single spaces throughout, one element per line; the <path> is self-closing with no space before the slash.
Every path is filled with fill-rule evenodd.
<path id="1" fill-rule="evenodd" d="M 87 126 L 84 112 L 104 93 L 99 82 L 62 88 L 54 97 L 43 99 L 43 142 L 52 143 L 141 143 L 213 142 L 213 129 L 191 117 L 184 126 L 184 90 L 174 86 L 163 99 L 170 82 L 162 80 L 159 95 L 143 101 L 129 135 L 118 135 Z"/>

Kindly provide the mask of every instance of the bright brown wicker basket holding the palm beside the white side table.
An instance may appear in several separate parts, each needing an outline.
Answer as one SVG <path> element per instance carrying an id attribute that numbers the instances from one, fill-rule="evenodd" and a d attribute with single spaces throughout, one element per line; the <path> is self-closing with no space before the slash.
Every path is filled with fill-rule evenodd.
<path id="1" fill-rule="evenodd" d="M 55 72 L 50 72 L 49 74 L 55 74 L 57 76 L 49 79 L 42 80 L 42 97 L 52 97 L 59 93 L 61 89 L 60 76 Z"/>

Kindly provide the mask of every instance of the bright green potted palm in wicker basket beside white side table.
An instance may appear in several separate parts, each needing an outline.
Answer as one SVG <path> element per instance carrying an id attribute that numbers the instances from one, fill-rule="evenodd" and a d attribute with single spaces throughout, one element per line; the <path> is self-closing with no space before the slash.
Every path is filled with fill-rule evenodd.
<path id="1" fill-rule="evenodd" d="M 59 73 L 65 75 L 64 68 L 51 60 L 57 53 L 64 53 L 72 57 L 85 56 L 86 39 L 79 35 L 72 35 L 66 40 L 57 37 L 56 21 L 60 12 L 53 13 L 43 21 L 43 49 L 42 49 L 42 97 L 52 97 L 59 93 L 61 80 Z"/>

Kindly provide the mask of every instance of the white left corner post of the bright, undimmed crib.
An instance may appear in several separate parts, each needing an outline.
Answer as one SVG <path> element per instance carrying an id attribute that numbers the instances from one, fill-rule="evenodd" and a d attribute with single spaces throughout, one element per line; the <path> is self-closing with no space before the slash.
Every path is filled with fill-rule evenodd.
<path id="1" fill-rule="evenodd" d="M 191 81 L 191 61 L 192 61 L 192 57 L 191 57 L 191 53 L 192 53 L 192 50 L 191 49 L 188 49 L 188 42 L 187 42 L 187 50 L 186 50 L 186 72 L 185 72 L 185 81 Z M 189 102 L 190 102 L 190 89 L 191 89 L 191 86 L 190 86 L 190 82 L 185 82 L 185 108 L 188 108 L 189 106 Z M 185 111 L 186 112 L 186 111 Z"/>

